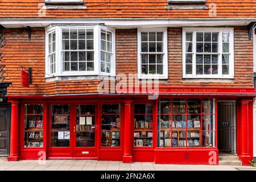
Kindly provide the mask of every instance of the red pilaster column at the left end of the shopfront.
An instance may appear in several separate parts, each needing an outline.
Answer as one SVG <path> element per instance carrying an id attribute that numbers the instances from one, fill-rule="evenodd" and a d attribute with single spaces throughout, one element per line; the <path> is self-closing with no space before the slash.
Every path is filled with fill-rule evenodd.
<path id="1" fill-rule="evenodd" d="M 10 138 L 10 156 L 8 161 L 19 160 L 19 102 L 11 101 L 11 138 Z"/>

